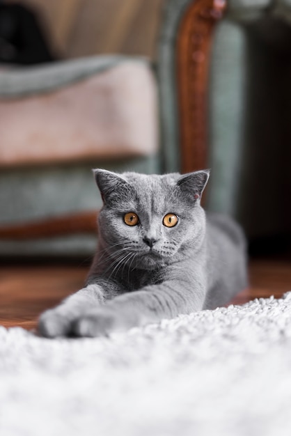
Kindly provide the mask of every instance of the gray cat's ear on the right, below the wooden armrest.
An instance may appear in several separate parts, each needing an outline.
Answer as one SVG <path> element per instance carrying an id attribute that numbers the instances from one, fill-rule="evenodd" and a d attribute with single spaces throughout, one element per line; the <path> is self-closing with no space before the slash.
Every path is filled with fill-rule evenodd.
<path id="1" fill-rule="evenodd" d="M 200 200 L 210 176 L 210 169 L 183 174 L 177 182 L 182 191 L 189 194 L 194 200 Z"/>

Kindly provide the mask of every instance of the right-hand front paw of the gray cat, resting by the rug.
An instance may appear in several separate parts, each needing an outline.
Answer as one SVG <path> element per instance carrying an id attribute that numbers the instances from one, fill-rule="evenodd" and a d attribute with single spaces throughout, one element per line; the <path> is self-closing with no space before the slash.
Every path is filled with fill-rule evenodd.
<path id="1" fill-rule="evenodd" d="M 93 338 L 109 336 L 112 332 L 124 331 L 129 327 L 127 320 L 117 311 L 102 307 L 81 316 L 74 322 L 72 330 L 76 336 Z"/>

